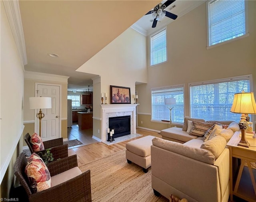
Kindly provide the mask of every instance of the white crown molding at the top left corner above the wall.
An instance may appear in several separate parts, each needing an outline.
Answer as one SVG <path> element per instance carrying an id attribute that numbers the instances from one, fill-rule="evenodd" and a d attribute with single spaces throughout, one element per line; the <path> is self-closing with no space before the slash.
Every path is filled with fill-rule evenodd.
<path id="1" fill-rule="evenodd" d="M 22 28 L 21 16 L 20 16 L 20 7 L 18 1 L 2 1 L 4 4 L 4 9 L 12 30 L 12 35 L 14 37 L 18 53 L 23 65 L 28 63 L 26 55 L 26 46 L 24 33 Z"/>

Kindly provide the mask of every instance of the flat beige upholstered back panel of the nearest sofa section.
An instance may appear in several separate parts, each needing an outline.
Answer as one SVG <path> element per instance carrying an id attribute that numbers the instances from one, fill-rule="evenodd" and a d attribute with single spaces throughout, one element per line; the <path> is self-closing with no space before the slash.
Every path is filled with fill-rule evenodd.
<path id="1" fill-rule="evenodd" d="M 182 144 L 180 144 L 182 145 Z M 218 168 L 176 152 L 151 146 L 152 188 L 168 198 L 220 201 Z"/>

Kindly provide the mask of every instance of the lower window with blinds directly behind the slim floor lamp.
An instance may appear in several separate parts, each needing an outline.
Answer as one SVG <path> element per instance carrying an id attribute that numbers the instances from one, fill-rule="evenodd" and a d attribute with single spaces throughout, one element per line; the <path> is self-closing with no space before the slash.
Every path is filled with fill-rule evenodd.
<path id="1" fill-rule="evenodd" d="M 176 105 L 165 105 L 166 98 L 175 98 Z M 184 121 L 184 87 L 174 86 L 166 88 L 151 89 L 152 120 L 170 121 L 171 110 L 172 123 L 183 123 Z"/>

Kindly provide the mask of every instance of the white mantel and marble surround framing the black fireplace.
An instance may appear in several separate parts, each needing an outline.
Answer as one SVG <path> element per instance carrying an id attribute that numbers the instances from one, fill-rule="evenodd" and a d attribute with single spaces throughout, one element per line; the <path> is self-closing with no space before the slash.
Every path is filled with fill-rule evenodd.
<path id="1" fill-rule="evenodd" d="M 108 118 L 131 116 L 131 134 L 136 134 L 136 106 L 138 104 L 112 104 L 101 106 L 101 141 L 107 140 Z"/>

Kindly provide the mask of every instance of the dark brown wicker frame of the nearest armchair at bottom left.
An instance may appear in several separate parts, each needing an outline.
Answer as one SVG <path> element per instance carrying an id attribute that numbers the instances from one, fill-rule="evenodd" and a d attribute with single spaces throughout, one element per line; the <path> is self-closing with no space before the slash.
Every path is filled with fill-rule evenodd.
<path id="1" fill-rule="evenodd" d="M 28 185 L 25 167 L 28 160 L 20 153 L 15 164 L 14 174 L 26 190 L 29 201 L 40 202 L 88 202 L 92 201 L 90 170 L 46 190 L 32 193 Z M 68 156 L 47 164 L 51 176 L 60 174 L 77 166 L 77 156 Z"/>

